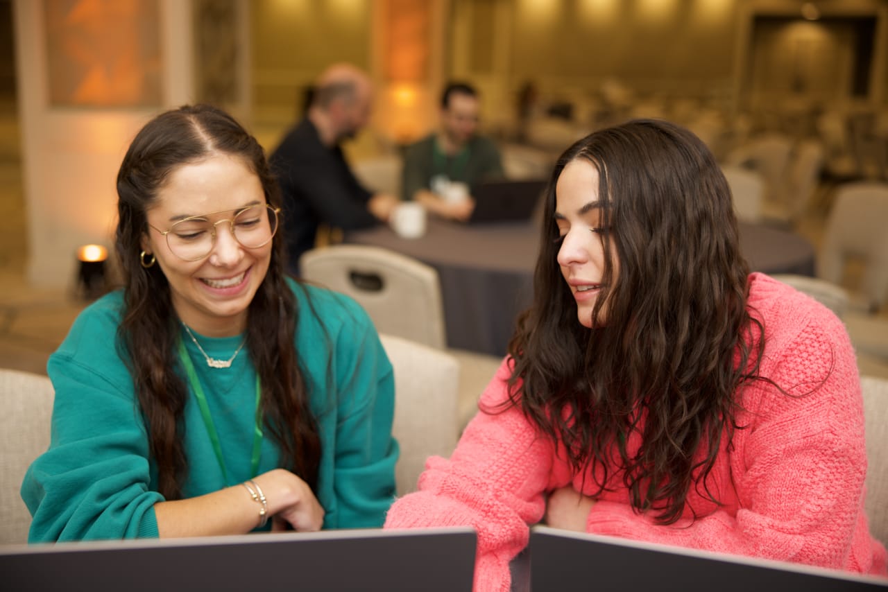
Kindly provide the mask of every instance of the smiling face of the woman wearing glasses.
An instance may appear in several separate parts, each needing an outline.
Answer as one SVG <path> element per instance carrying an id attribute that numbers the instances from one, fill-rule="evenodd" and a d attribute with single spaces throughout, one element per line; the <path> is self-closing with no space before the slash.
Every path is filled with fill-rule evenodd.
<path id="1" fill-rule="evenodd" d="M 212 154 L 174 170 L 147 210 L 150 226 L 141 247 L 157 258 L 179 319 L 202 335 L 237 335 L 244 330 L 247 308 L 271 262 L 272 241 L 246 249 L 234 239 L 231 225 L 223 222 L 216 225 L 210 254 L 184 261 L 170 252 L 162 232 L 184 217 L 215 212 L 206 217 L 215 223 L 231 219 L 246 206 L 265 203 L 258 176 L 241 159 Z"/>

